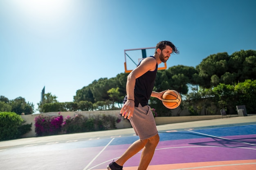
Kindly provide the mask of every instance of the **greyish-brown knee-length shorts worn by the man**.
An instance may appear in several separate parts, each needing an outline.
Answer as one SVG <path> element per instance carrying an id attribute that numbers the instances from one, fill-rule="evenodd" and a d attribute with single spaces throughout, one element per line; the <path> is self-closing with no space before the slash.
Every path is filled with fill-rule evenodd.
<path id="1" fill-rule="evenodd" d="M 136 135 L 139 136 L 141 140 L 148 139 L 158 133 L 155 118 L 148 105 L 142 107 L 141 104 L 139 104 L 138 107 L 135 107 L 133 117 L 130 118 L 130 123 Z"/>

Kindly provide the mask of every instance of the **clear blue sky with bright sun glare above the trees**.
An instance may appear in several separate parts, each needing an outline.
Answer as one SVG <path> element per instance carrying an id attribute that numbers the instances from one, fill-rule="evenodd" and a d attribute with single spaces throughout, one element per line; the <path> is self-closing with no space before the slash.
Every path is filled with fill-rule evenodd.
<path id="1" fill-rule="evenodd" d="M 256 50 L 255 8 L 255 0 L 0 0 L 0 95 L 37 109 L 45 86 L 71 102 L 124 72 L 125 49 L 162 40 L 180 50 L 167 67 Z"/>

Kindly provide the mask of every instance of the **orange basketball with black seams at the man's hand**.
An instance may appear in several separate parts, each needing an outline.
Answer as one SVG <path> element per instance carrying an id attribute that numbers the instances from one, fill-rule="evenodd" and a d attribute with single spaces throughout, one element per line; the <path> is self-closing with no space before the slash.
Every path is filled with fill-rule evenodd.
<path id="1" fill-rule="evenodd" d="M 180 106 L 181 96 L 175 90 L 168 90 L 162 96 L 162 102 L 168 109 L 175 109 Z"/>

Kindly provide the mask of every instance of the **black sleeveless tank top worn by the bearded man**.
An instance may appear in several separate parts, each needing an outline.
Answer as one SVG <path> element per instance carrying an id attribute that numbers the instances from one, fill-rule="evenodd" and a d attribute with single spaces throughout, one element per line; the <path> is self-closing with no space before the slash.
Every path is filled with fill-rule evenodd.
<path id="1" fill-rule="evenodd" d="M 153 57 L 153 56 L 150 56 Z M 153 57 L 155 59 L 155 57 Z M 137 65 L 139 66 L 140 63 Z M 148 105 L 148 100 L 153 91 L 155 77 L 157 75 L 158 65 L 154 71 L 148 71 L 142 76 L 136 78 L 135 88 L 134 88 L 134 98 L 135 98 L 135 107 L 139 106 L 139 103 L 142 107 Z M 127 101 L 127 96 L 124 98 L 124 103 Z"/>

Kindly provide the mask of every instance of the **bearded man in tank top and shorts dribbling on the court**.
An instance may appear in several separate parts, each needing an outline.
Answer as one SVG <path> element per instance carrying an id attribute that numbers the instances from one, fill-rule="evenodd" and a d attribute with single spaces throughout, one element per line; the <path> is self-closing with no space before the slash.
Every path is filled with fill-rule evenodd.
<path id="1" fill-rule="evenodd" d="M 151 97 L 162 99 L 163 92 L 153 92 L 155 77 L 158 65 L 166 62 L 172 53 L 179 54 L 177 48 L 170 41 L 160 41 L 156 48 L 154 56 L 143 59 L 137 68 L 132 70 L 127 77 L 126 93 L 124 106 L 120 114 L 128 118 L 139 139 L 135 141 L 125 153 L 110 163 L 108 170 L 122 170 L 124 163 L 141 149 L 141 160 L 138 170 L 146 170 L 159 142 L 155 119 L 148 106 L 148 100 Z"/>

